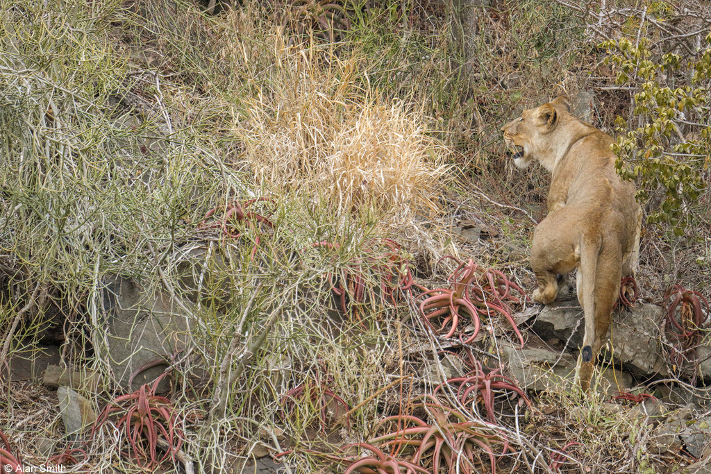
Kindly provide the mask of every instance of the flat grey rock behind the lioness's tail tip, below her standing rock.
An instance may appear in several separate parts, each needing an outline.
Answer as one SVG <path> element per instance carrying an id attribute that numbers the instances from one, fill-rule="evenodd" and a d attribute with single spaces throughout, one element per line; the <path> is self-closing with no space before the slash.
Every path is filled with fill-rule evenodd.
<path id="1" fill-rule="evenodd" d="M 536 391 L 553 389 L 573 389 L 575 384 L 576 357 L 565 352 L 547 349 L 518 349 L 510 343 L 500 343 L 501 360 L 508 374 L 517 380 L 523 389 Z M 597 382 L 597 375 L 602 379 Z M 611 367 L 597 367 L 592 387 L 607 394 L 629 389 L 632 377 Z"/>

